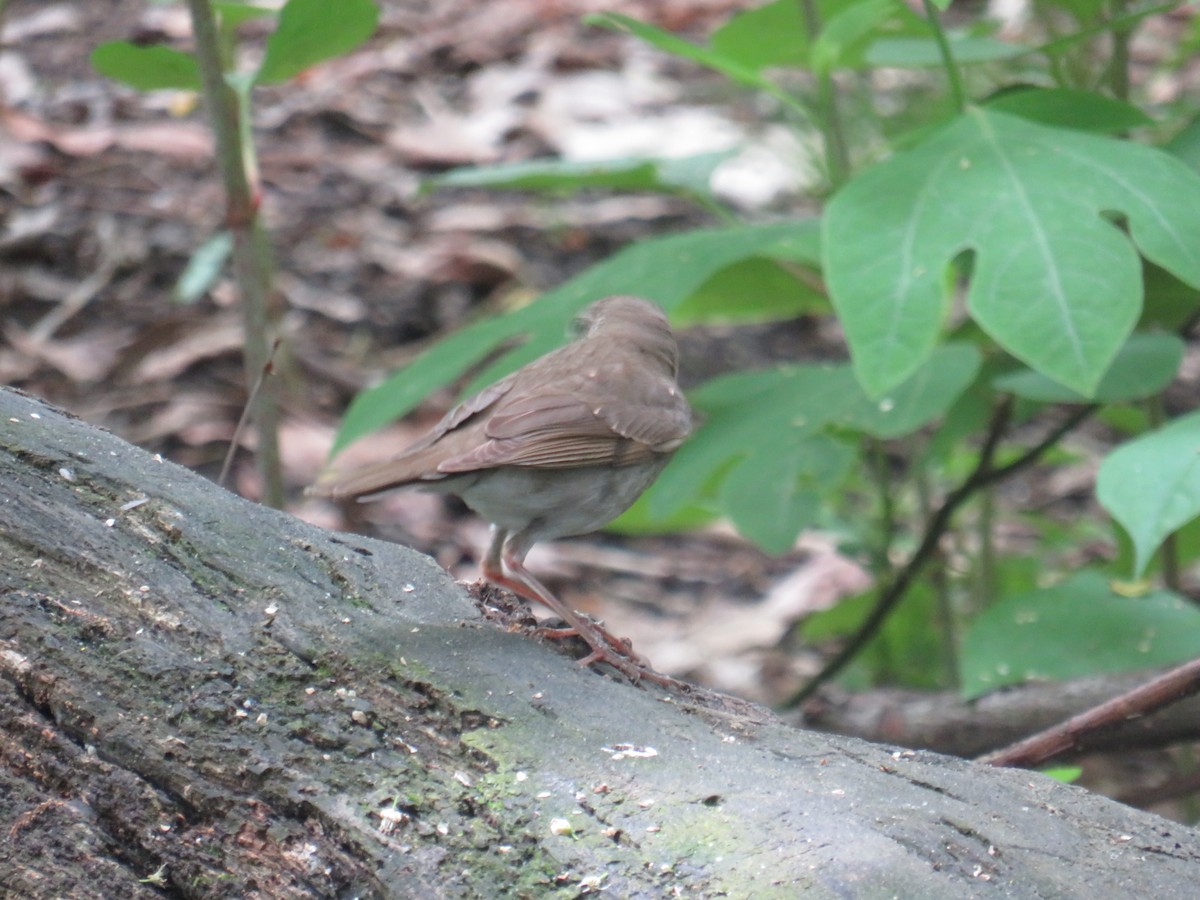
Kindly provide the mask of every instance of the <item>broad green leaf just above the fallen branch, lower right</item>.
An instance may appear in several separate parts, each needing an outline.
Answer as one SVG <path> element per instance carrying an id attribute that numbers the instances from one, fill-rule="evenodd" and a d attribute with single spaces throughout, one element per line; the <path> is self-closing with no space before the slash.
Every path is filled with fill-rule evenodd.
<path id="1" fill-rule="evenodd" d="M 985 611 L 962 642 L 967 700 L 1027 680 L 1081 678 L 1194 659 L 1200 610 L 1165 590 L 1129 598 L 1094 571 L 1010 596 Z"/>

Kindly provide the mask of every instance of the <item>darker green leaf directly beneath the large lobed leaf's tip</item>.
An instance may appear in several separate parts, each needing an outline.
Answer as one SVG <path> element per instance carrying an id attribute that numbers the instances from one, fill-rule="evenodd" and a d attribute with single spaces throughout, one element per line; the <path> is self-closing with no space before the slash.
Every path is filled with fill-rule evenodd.
<path id="1" fill-rule="evenodd" d="M 1039 403 L 1123 403 L 1158 394 L 1175 380 L 1182 362 L 1183 341 L 1175 335 L 1133 334 L 1091 398 L 1028 368 L 1002 374 L 992 386 Z"/>

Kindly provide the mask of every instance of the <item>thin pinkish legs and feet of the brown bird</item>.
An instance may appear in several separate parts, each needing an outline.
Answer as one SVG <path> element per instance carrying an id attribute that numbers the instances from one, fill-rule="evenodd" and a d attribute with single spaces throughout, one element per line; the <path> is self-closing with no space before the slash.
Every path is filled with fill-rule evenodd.
<path id="1" fill-rule="evenodd" d="M 674 678 L 655 672 L 634 654 L 628 642 L 614 637 L 601 625 L 584 619 L 550 593 L 550 589 L 524 568 L 524 556 L 529 547 L 523 546 L 523 541 L 520 540 L 521 535 L 516 534 L 509 541 L 505 541 L 508 532 L 496 526 L 492 527 L 492 542 L 484 557 L 484 578 L 498 587 L 508 588 L 526 600 L 539 602 L 562 617 L 571 630 L 592 648 L 592 653 L 580 660 L 581 666 L 607 662 L 635 682 L 647 678 L 664 686 L 680 684 Z M 563 635 L 559 632 L 558 636 Z"/>

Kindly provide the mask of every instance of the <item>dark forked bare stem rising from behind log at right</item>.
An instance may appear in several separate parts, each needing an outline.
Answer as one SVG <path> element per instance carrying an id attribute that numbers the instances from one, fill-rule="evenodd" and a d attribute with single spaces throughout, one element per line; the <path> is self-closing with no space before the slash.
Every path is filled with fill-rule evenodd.
<path id="1" fill-rule="evenodd" d="M 811 697 L 822 684 L 838 674 L 846 666 L 846 664 L 850 662 L 872 637 L 875 637 L 880 626 L 882 626 L 887 620 L 887 617 L 890 614 L 892 610 L 895 608 L 896 604 L 904 599 L 908 587 L 925 568 L 925 564 L 936 556 L 937 545 L 941 542 L 942 535 L 949 530 L 950 522 L 953 521 L 954 514 L 958 512 L 959 508 L 971 499 L 976 492 L 990 485 L 995 485 L 1006 478 L 1010 478 L 1021 469 L 1025 469 L 1037 462 L 1046 450 L 1062 440 L 1063 436 L 1079 427 L 1084 420 L 1091 416 L 1098 409 L 1098 406 L 1091 403 L 1079 407 L 1060 425 L 1051 430 L 1046 437 L 1018 456 L 1015 460 L 998 468 L 992 468 L 996 448 L 1003 437 L 1004 430 L 1008 427 L 1012 409 L 1012 397 L 1006 397 L 1001 401 L 996 412 L 992 414 L 991 425 L 988 428 L 988 437 L 984 439 L 984 445 L 979 450 L 979 461 L 976 463 L 974 469 L 972 469 L 971 474 L 964 479 L 962 484 L 950 491 L 946 496 L 946 499 L 942 500 L 942 505 L 938 506 L 932 518 L 930 518 L 929 524 L 925 527 L 925 532 L 922 535 L 922 540 L 917 546 L 917 550 L 908 558 L 908 562 L 896 570 L 890 583 L 888 583 L 880 592 L 878 600 L 876 600 L 871 612 L 868 614 L 866 619 L 863 620 L 863 624 L 858 626 L 858 630 L 850 637 L 846 646 L 842 647 L 838 655 L 829 660 L 808 684 L 784 701 L 781 704 L 782 709 L 794 709 Z"/>

